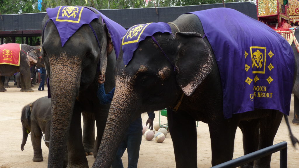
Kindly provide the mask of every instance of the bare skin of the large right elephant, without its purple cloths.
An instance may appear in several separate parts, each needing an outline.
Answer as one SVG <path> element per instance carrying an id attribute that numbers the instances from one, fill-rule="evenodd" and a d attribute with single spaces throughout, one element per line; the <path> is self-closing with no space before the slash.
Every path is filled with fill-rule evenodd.
<path id="1" fill-rule="evenodd" d="M 197 167 L 196 121 L 209 125 L 213 166 L 233 158 L 238 126 L 243 133 L 244 154 L 273 144 L 283 114 L 276 110 L 255 109 L 225 119 L 219 69 L 209 41 L 199 35 L 205 34 L 202 23 L 193 14 L 181 15 L 172 23 L 169 25 L 173 35 L 154 35 L 163 52 L 152 38 L 147 37 L 139 43 L 126 67 L 123 53 L 120 53 L 116 63 L 115 94 L 94 167 L 110 167 L 117 150 L 115 144 L 120 143 L 135 117 L 176 105 L 180 105 L 176 112 L 167 109 L 176 167 Z M 209 57 L 212 62 L 206 65 L 210 62 Z M 207 67 L 211 67 L 209 73 L 199 73 Z M 182 89 L 179 82 L 200 77 L 203 80 L 194 88 L 193 94 L 183 94 L 184 89 L 193 88 Z M 271 155 L 243 167 L 270 167 L 270 161 Z"/>

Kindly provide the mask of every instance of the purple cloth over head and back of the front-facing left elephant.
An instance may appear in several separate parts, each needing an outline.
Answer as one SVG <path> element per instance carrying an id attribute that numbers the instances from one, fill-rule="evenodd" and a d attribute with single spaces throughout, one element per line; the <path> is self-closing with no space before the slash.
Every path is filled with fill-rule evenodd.
<path id="1" fill-rule="evenodd" d="M 62 46 L 83 24 L 89 24 L 93 19 L 97 19 L 101 16 L 102 23 L 107 25 L 108 31 L 111 35 L 115 55 L 116 58 L 118 58 L 120 41 L 126 33 L 126 29 L 118 23 L 109 19 L 92 7 L 60 6 L 47 8 L 46 11 L 49 16 L 49 20 L 51 19 L 54 22 L 58 30 Z M 97 13 L 94 11 L 97 11 Z M 92 27 L 91 29 L 93 30 Z M 95 32 L 94 35 L 96 36 Z"/>

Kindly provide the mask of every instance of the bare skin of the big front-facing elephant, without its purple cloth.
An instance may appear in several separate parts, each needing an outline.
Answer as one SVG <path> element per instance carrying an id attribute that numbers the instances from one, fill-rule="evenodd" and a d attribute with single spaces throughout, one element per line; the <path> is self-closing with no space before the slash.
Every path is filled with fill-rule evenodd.
<path id="1" fill-rule="evenodd" d="M 97 71 L 100 60 L 101 65 L 107 66 L 106 91 L 115 86 L 112 70 L 116 56 L 111 37 L 102 19 L 94 19 L 89 25 L 82 25 L 62 47 L 54 22 L 48 20 L 49 16 L 46 15 L 42 22 L 42 27 L 45 27 L 42 57 L 49 76 L 52 99 L 48 167 L 62 167 L 65 146 L 68 148 L 68 167 L 88 167 L 86 154 L 94 151 L 94 157 L 97 155 L 110 107 L 110 104 L 100 105 L 96 95 L 97 77 L 101 73 Z M 99 44 L 90 26 L 95 30 Z M 87 119 L 83 117 L 83 129 L 90 132 L 83 137 L 81 112 L 92 113 L 86 115 Z M 94 137 L 89 135 L 94 132 L 94 120 L 97 138 L 91 144 Z"/>

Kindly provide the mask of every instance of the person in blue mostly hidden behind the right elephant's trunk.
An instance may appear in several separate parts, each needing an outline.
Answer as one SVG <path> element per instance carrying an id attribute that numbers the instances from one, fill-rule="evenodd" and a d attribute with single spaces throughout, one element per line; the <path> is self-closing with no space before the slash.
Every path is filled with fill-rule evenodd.
<path id="1" fill-rule="evenodd" d="M 108 94 L 105 93 L 104 88 L 105 75 L 99 75 L 98 83 L 99 88 L 97 90 L 97 97 L 100 100 L 101 104 L 111 103 L 114 90 L 113 88 Z M 149 129 L 153 129 L 153 122 L 155 118 L 154 111 L 147 112 L 149 118 L 146 125 L 149 123 Z M 121 157 L 127 149 L 128 153 L 128 168 L 137 168 L 138 158 L 139 158 L 139 149 L 142 138 L 142 119 L 141 116 L 134 120 L 130 125 L 129 129 L 126 132 L 124 139 L 121 141 L 118 151 L 112 162 L 112 168 L 123 168 L 123 162 Z"/>

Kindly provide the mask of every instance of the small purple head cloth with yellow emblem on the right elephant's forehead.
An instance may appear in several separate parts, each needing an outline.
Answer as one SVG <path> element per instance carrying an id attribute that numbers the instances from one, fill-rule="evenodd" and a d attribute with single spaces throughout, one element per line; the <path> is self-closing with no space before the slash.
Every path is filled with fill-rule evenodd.
<path id="1" fill-rule="evenodd" d="M 157 32 L 171 34 L 171 28 L 167 23 L 158 22 L 135 25 L 127 30 L 121 44 L 123 50 L 123 63 L 125 66 L 127 66 L 132 59 L 134 51 L 138 48 L 139 42 L 144 40 L 147 36 L 152 36 Z"/>

